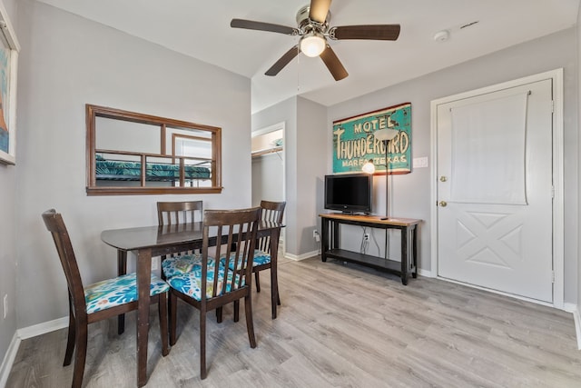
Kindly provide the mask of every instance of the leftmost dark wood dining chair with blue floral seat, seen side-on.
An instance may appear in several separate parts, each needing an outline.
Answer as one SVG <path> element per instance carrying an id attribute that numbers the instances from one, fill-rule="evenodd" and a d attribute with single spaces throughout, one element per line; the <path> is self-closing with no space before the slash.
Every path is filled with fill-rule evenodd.
<path id="1" fill-rule="evenodd" d="M 88 325 L 104 319 L 137 310 L 136 275 L 125 274 L 102 282 L 83 285 L 74 256 L 73 244 L 61 214 L 54 209 L 43 213 L 46 229 L 53 235 L 56 251 L 63 266 L 69 294 L 69 328 L 63 366 L 70 365 L 74 353 L 72 386 L 83 383 L 84 363 L 87 352 Z M 162 355 L 169 353 L 167 330 L 168 284 L 152 276 L 150 295 L 152 303 L 159 303 Z"/>

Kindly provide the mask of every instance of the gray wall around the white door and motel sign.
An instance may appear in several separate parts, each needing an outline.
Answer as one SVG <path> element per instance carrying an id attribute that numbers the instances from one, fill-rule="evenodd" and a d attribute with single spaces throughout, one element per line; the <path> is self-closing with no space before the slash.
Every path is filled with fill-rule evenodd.
<path id="1" fill-rule="evenodd" d="M 576 303 L 577 237 L 579 235 L 577 227 L 579 139 L 577 134 L 578 70 L 576 53 L 576 29 L 571 28 L 460 65 L 448 67 L 342 104 L 333 105 L 329 108 L 327 124 L 329 171 L 331 171 L 331 126 L 334 120 L 411 102 L 412 157 L 431 156 L 431 100 L 563 67 L 565 78 L 565 302 Z M 424 223 L 420 225 L 419 234 L 419 268 L 429 271 L 431 266 L 429 169 L 416 169 L 411 174 L 393 175 L 390 179 L 390 214 L 424 220 Z M 383 209 L 385 177 L 376 177 L 374 184 L 379 184 L 379 191 L 376 189 L 375 193 L 377 194 L 376 205 L 379 206 L 379 209 Z M 357 240 L 357 244 L 359 244 L 360 234 L 353 234 L 351 238 Z"/>

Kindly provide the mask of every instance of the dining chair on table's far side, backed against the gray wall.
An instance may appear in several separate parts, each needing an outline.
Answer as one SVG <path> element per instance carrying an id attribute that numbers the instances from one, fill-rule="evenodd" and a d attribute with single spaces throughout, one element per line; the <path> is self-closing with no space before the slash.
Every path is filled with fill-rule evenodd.
<path id="1" fill-rule="evenodd" d="M 157 220 L 162 225 L 195 224 L 202 221 L 202 201 L 158 202 Z M 199 254 L 181 252 L 171 257 L 162 256 L 162 279 L 192 270 L 200 262 Z"/>

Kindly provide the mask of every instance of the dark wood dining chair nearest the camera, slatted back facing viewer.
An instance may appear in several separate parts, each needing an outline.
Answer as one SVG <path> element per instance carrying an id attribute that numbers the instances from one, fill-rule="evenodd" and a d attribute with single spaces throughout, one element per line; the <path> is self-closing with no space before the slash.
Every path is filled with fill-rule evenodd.
<path id="1" fill-rule="evenodd" d="M 177 299 L 200 310 L 200 376 L 205 379 L 206 314 L 227 303 L 244 299 L 246 329 L 251 348 L 256 347 L 252 322 L 252 257 L 261 208 L 206 210 L 203 215 L 202 264 L 192 271 L 168 279 L 170 284 L 170 344 L 176 343 Z M 216 245 L 217 254 L 225 250 L 230 259 L 209 260 L 208 248 Z M 233 249 L 233 251 L 232 251 Z"/>

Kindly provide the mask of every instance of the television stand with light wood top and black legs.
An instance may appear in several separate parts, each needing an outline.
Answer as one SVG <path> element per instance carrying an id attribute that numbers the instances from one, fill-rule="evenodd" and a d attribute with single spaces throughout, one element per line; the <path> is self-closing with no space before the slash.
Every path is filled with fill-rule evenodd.
<path id="1" fill-rule="evenodd" d="M 352 215 L 352 214 L 319 214 L 321 221 L 322 247 L 320 259 L 327 258 L 344 262 L 357 263 L 380 271 L 398 274 L 401 283 L 408 284 L 409 274 L 418 277 L 418 238 L 417 226 L 421 220 L 411 218 L 380 217 L 379 215 Z M 398 229 L 401 234 L 401 261 L 389 260 L 383 257 L 340 249 L 339 226 L 351 224 L 377 229 Z M 409 249 L 410 248 L 410 249 Z"/>

